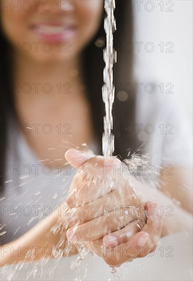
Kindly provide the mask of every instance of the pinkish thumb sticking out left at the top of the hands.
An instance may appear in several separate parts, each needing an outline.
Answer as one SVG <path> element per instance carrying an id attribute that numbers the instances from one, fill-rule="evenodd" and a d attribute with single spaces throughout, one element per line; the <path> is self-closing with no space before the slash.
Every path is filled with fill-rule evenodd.
<path id="1" fill-rule="evenodd" d="M 83 165 L 87 160 L 96 155 L 92 152 L 92 150 L 76 150 L 76 149 L 69 149 L 65 153 L 66 160 L 72 165 L 73 167 L 80 167 Z"/>

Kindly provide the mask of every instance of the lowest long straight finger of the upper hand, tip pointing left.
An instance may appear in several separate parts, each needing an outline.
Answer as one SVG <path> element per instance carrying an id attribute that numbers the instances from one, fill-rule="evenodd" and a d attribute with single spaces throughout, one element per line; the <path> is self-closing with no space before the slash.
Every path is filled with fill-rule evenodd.
<path id="1" fill-rule="evenodd" d="M 132 206 L 132 209 L 131 215 L 127 214 L 124 208 L 120 208 L 119 210 L 116 210 L 116 212 L 110 212 L 105 214 L 105 216 L 95 218 L 82 225 L 70 228 L 67 231 L 67 238 L 75 243 L 78 241 L 90 241 L 104 237 L 138 219 L 138 209 L 135 206 Z M 145 214 L 140 214 L 140 216 L 143 216 L 143 220 L 145 221 Z"/>

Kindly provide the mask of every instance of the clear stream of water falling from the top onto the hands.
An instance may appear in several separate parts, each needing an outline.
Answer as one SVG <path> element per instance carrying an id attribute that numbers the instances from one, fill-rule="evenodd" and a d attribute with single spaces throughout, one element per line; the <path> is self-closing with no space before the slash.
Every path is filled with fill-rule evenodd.
<path id="1" fill-rule="evenodd" d="M 106 48 L 103 50 L 105 62 L 102 86 L 102 99 L 105 104 L 104 133 L 102 136 L 102 153 L 105 157 L 112 156 L 114 152 L 114 134 L 112 108 L 114 102 L 115 86 L 113 85 L 113 64 L 116 62 L 116 51 L 113 49 L 113 33 L 116 30 L 114 18 L 115 0 L 104 1 L 104 9 L 107 16 L 104 19 L 104 30 L 106 32 Z"/>

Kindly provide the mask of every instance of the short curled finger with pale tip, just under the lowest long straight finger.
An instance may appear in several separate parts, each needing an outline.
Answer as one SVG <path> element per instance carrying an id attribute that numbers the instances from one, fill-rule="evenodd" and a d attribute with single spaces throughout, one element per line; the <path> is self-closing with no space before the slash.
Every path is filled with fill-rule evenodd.
<path id="1" fill-rule="evenodd" d="M 126 243 L 144 226 L 140 220 L 135 220 L 118 231 L 108 234 L 103 237 L 103 245 L 114 247 L 119 244 Z"/>

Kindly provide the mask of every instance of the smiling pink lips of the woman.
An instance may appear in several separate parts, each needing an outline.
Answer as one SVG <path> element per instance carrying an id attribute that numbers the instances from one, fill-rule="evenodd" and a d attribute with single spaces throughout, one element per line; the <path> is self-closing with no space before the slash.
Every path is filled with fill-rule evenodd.
<path id="1" fill-rule="evenodd" d="M 38 37 L 49 42 L 67 41 L 72 38 L 76 31 L 76 26 L 73 24 L 49 22 L 38 23 L 30 27 Z"/>

